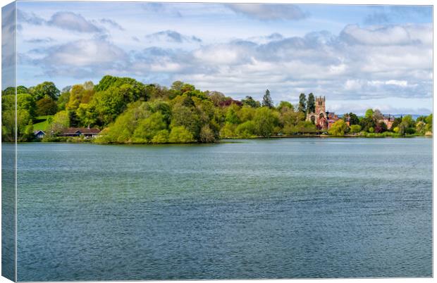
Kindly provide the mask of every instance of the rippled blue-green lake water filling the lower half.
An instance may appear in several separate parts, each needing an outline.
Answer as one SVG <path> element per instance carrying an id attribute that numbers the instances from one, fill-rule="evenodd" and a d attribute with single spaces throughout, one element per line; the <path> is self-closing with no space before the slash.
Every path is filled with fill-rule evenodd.
<path id="1" fill-rule="evenodd" d="M 432 276 L 432 140 L 19 144 L 18 280 Z"/>

